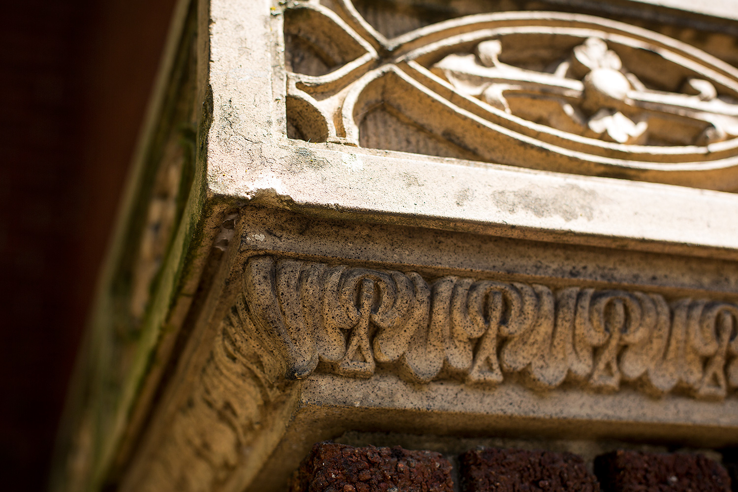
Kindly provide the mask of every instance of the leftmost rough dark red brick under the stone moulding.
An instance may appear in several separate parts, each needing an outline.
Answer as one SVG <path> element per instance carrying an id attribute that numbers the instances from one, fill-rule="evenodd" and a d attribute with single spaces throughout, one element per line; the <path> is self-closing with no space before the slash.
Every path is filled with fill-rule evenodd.
<path id="1" fill-rule="evenodd" d="M 433 451 L 317 443 L 290 492 L 452 492 L 451 463 Z"/>

